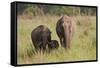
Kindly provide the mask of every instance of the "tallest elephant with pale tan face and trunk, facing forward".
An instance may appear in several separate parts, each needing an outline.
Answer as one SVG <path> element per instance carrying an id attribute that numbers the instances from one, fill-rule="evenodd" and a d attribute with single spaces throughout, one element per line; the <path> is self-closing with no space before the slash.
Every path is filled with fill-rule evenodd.
<path id="1" fill-rule="evenodd" d="M 56 24 L 56 32 L 60 39 L 60 43 L 64 48 L 70 48 L 72 36 L 74 33 L 73 18 L 64 15 Z"/>

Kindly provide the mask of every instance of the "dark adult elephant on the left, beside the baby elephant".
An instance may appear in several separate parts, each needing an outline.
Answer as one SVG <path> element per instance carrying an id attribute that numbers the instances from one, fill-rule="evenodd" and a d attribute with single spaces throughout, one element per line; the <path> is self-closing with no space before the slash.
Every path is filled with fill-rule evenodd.
<path id="1" fill-rule="evenodd" d="M 44 52 L 47 44 L 51 42 L 51 31 L 46 26 L 40 25 L 31 32 L 31 39 L 35 50 L 42 50 Z"/>

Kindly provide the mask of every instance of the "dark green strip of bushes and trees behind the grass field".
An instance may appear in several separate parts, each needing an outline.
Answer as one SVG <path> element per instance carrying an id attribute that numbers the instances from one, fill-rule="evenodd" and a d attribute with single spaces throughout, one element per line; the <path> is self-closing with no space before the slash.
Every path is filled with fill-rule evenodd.
<path id="1" fill-rule="evenodd" d="M 95 7 L 75 7 L 57 5 L 18 4 L 18 14 L 32 15 L 96 15 Z"/>

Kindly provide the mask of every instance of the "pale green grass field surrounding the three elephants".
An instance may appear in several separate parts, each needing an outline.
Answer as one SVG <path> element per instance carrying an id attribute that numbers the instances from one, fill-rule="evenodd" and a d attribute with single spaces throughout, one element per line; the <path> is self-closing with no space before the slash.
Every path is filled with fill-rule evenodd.
<path id="1" fill-rule="evenodd" d="M 96 18 L 95 16 L 76 16 L 76 30 L 71 48 L 60 47 L 50 53 L 35 53 L 31 41 L 31 32 L 38 25 L 46 25 L 52 32 L 52 39 L 58 40 L 56 23 L 59 16 L 34 16 L 27 18 L 18 16 L 17 22 L 17 63 L 35 64 L 51 62 L 70 62 L 96 60 Z M 60 43 L 59 43 L 60 44 Z"/>

